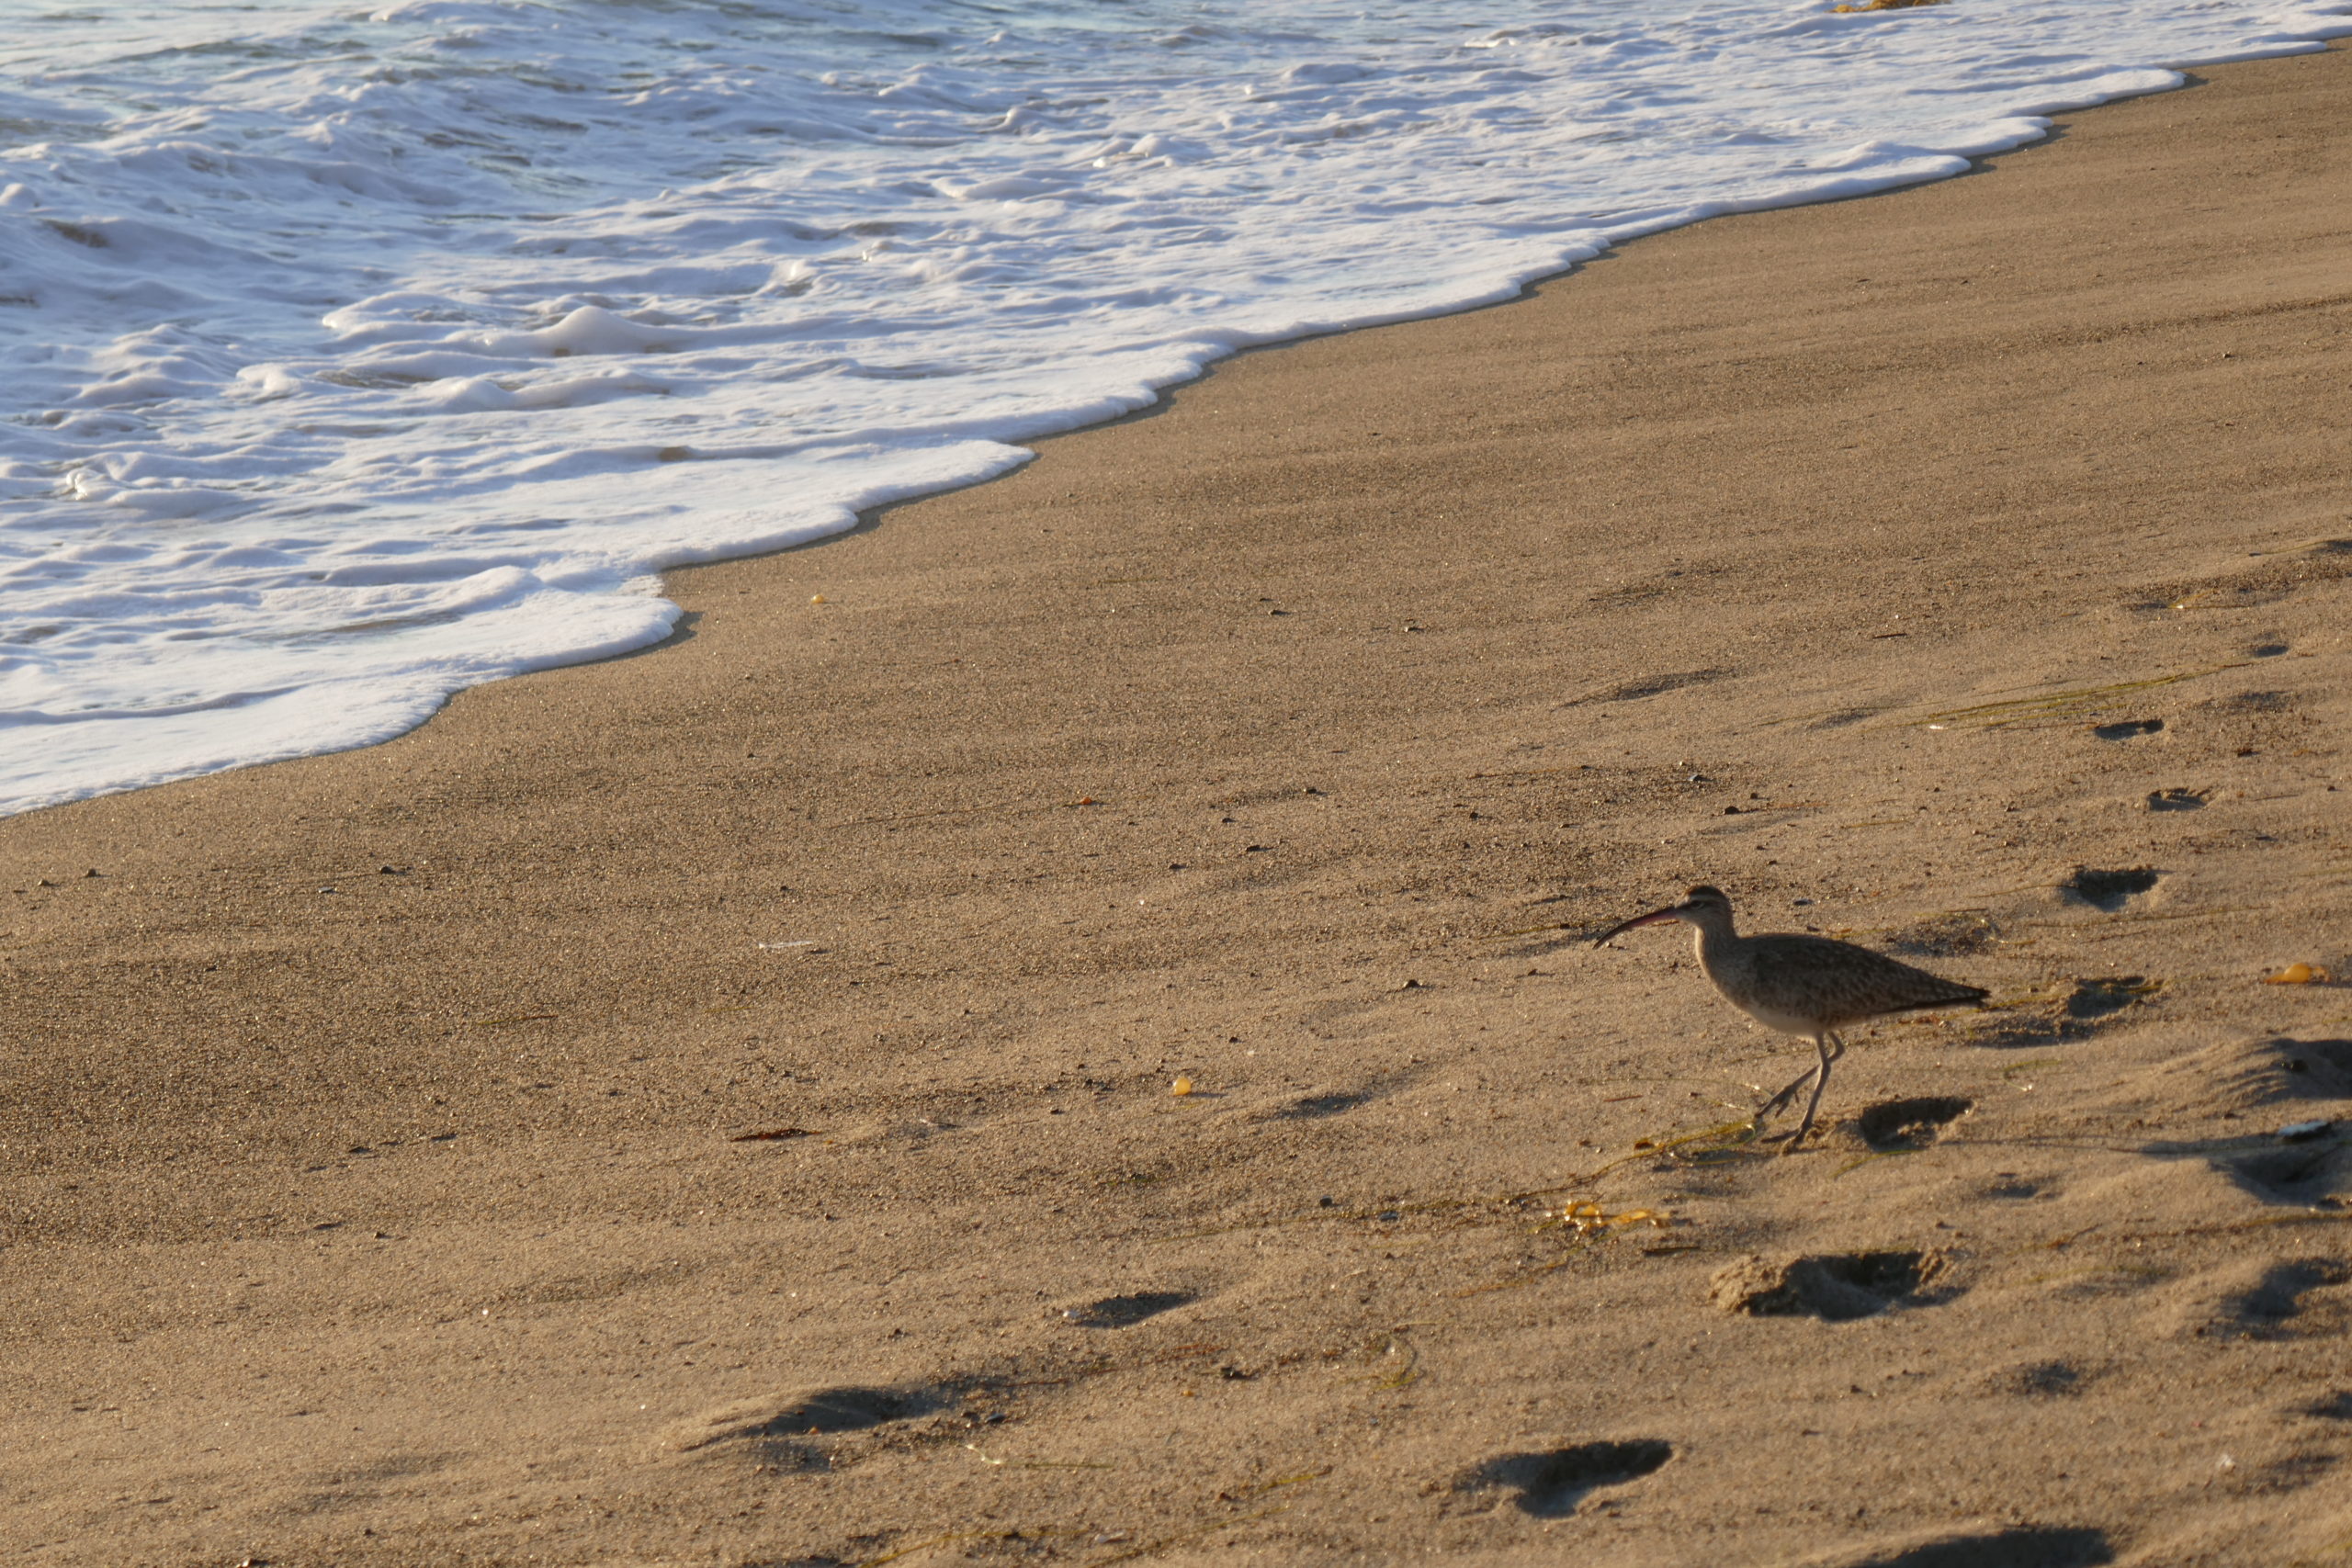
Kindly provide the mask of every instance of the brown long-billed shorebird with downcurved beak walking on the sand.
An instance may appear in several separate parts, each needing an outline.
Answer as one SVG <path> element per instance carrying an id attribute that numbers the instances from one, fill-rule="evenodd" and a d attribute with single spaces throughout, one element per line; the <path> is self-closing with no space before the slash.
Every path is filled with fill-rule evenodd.
<path id="1" fill-rule="evenodd" d="M 1837 1039 L 1842 1027 L 1893 1013 L 1966 1006 L 1985 999 L 1983 987 L 1945 980 L 1924 969 L 1898 964 L 1882 952 L 1837 943 L 1828 936 L 1795 936 L 1788 931 L 1740 936 L 1731 929 L 1731 900 L 1715 886 L 1696 886 L 1677 905 L 1637 914 L 1623 926 L 1611 926 L 1592 938 L 1592 945 L 1599 947 L 1623 931 L 1670 919 L 1698 926 L 1698 966 L 1715 980 L 1715 990 L 1724 994 L 1724 1001 L 1766 1030 L 1811 1037 L 1813 1051 L 1820 1053 L 1816 1067 L 1799 1074 L 1795 1084 L 1757 1110 L 1755 1126 L 1762 1128 L 1764 1119 L 1788 1105 L 1799 1088 L 1806 1084 L 1813 1086 L 1813 1098 L 1804 1107 L 1804 1121 L 1780 1145 L 1783 1154 L 1804 1143 L 1804 1135 L 1813 1131 L 1813 1112 L 1820 1110 L 1820 1091 L 1830 1081 L 1830 1063 L 1846 1053 L 1846 1044 Z"/>

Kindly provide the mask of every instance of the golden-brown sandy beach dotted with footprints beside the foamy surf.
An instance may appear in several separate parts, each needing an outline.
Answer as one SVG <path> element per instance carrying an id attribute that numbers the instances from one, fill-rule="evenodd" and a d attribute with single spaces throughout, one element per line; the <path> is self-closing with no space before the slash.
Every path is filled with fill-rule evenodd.
<path id="1" fill-rule="evenodd" d="M 0 1556 L 2343 1561 L 2347 214 L 2213 71 L 0 823 Z M 1670 1145 L 1698 879 L 1999 1006 Z"/>

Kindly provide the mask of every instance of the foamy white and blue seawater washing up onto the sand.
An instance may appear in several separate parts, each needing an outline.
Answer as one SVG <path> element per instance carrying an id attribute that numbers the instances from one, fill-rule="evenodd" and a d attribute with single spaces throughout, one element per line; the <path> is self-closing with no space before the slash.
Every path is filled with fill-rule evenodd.
<path id="1" fill-rule="evenodd" d="M 383 741 L 1242 346 L 2347 12 L 0 0 L 0 813 Z"/>

